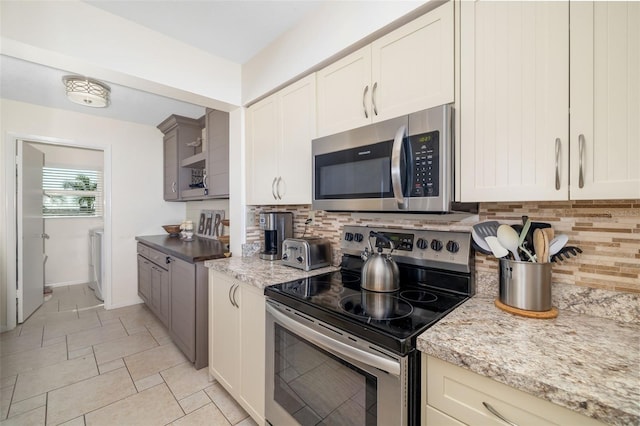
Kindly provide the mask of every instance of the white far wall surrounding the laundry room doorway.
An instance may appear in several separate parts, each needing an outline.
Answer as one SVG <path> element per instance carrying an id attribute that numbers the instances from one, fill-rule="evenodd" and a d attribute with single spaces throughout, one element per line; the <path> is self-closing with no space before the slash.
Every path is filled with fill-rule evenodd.
<path id="1" fill-rule="evenodd" d="M 105 169 L 105 176 L 111 174 L 110 185 L 105 182 L 105 189 L 110 193 L 107 194 L 107 197 L 110 195 L 107 209 L 111 211 L 111 223 L 105 223 L 105 231 L 110 231 L 111 237 L 109 297 L 112 307 L 138 303 L 135 236 L 162 233 L 162 225 L 180 223 L 185 216 L 184 203 L 163 201 L 162 133 L 151 126 L 6 99 L 0 100 L 0 123 L 3 147 L 0 150 L 0 176 L 4 178 L 10 168 L 7 163 L 11 164 L 4 158 L 5 144 L 11 143 L 16 135 L 29 140 L 55 138 L 64 145 L 105 150 L 106 164 L 110 165 L 110 169 Z M 3 182 L 0 200 L 5 213 L 12 208 L 6 205 L 7 190 Z M 5 226 L 5 221 L 0 221 L 1 241 L 6 243 L 1 246 L 0 253 L 3 272 L 7 266 L 12 266 L 6 263 L 12 243 L 7 241 L 11 231 Z M 1 275 L 0 293 L 4 297 L 7 283 L 4 273 Z M 4 311 L 5 304 L 1 308 Z"/>

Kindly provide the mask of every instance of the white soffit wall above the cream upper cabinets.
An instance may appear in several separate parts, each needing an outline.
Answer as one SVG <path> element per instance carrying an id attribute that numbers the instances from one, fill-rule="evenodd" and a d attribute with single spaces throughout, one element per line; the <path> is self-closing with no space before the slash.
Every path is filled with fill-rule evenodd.
<path id="1" fill-rule="evenodd" d="M 394 21 L 400 25 L 439 3 L 424 0 L 325 2 L 242 66 L 242 105 L 370 36 L 375 37 L 374 33 Z"/>

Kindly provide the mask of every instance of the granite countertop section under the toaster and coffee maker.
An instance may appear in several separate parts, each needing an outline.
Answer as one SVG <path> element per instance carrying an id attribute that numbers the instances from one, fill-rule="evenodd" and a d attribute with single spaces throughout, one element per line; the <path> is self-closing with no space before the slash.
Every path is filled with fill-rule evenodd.
<path id="1" fill-rule="evenodd" d="M 302 269 L 284 266 L 278 260 L 262 260 L 256 256 L 230 257 L 228 259 L 208 261 L 204 265 L 259 289 L 339 269 L 335 266 L 327 266 L 306 272 Z"/>

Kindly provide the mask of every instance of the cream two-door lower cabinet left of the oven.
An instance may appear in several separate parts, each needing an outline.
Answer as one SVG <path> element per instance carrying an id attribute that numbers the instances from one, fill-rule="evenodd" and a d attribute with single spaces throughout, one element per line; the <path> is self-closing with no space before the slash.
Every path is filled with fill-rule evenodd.
<path id="1" fill-rule="evenodd" d="M 265 305 L 259 289 L 209 271 L 209 372 L 264 424 Z"/>

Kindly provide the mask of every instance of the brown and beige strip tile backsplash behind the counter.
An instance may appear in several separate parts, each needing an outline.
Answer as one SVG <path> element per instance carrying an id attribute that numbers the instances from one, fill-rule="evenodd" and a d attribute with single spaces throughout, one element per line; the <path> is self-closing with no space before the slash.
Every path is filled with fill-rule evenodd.
<path id="1" fill-rule="evenodd" d="M 259 211 L 291 211 L 294 236 L 305 233 L 310 206 L 258 206 L 255 221 L 247 224 L 247 243 L 260 242 Z M 592 289 L 640 293 L 640 200 L 558 201 L 526 203 L 481 203 L 477 216 L 462 221 L 425 215 L 375 215 L 315 212 L 315 224 L 306 235 L 328 238 L 334 249 L 334 264 L 340 261 L 340 230 L 346 224 L 371 224 L 384 227 L 470 231 L 478 221 L 497 220 L 521 223 L 528 215 L 536 222 L 550 223 L 556 234 L 569 236 L 568 245 L 583 250 L 577 257 L 558 262 L 553 267 L 554 284 L 569 284 Z M 495 277 L 498 262 L 492 256 L 476 254 L 476 273 Z M 478 280 L 480 281 L 480 280 Z"/>

